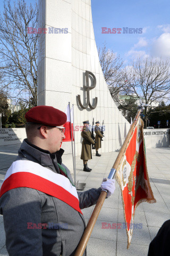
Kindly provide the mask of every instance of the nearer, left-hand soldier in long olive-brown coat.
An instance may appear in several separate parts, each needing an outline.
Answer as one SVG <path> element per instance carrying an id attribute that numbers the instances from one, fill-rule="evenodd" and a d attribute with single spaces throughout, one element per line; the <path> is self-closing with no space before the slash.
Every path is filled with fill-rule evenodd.
<path id="1" fill-rule="evenodd" d="M 83 129 L 81 132 L 82 141 L 82 150 L 81 150 L 81 159 L 84 164 L 84 172 L 90 172 L 91 169 L 87 166 L 87 162 L 89 159 L 92 159 L 91 156 L 91 144 L 95 145 L 95 141 L 91 138 L 91 132 L 88 129 L 89 120 L 83 122 Z"/>

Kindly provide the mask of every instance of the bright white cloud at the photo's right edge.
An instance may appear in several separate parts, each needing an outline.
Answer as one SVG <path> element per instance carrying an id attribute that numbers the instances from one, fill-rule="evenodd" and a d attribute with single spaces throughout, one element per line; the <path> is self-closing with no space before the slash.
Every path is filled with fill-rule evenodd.
<path id="1" fill-rule="evenodd" d="M 151 45 L 150 53 L 153 57 L 170 57 L 170 33 L 163 33 Z"/>

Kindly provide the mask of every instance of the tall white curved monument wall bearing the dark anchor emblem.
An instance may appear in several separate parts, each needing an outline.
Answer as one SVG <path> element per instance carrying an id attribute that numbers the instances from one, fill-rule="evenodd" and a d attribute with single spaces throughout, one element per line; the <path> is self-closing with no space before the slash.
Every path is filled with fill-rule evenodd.
<path id="1" fill-rule="evenodd" d="M 92 25 L 90 0 L 39 0 L 39 27 L 47 34 L 39 35 L 38 105 L 49 105 L 65 110 L 68 102 L 74 104 L 74 124 L 92 118 L 100 123 L 104 119 L 105 138 L 101 153 L 120 149 L 130 124 L 117 109 L 107 88 L 101 70 Z M 52 28 L 68 28 L 67 34 L 49 34 Z M 90 102 L 98 97 L 97 107 L 81 109 L 77 95 L 83 103 L 85 72 L 96 76 L 96 87 L 90 90 Z M 89 84 L 90 86 L 90 84 Z M 70 163 L 71 143 L 62 147 Z M 81 154 L 81 131 L 75 132 L 76 155 Z M 93 151 L 95 153 L 95 151 Z M 69 157 L 70 155 L 70 157 Z M 69 158 L 68 158 L 69 157 Z M 68 160 L 69 159 L 69 160 Z"/>

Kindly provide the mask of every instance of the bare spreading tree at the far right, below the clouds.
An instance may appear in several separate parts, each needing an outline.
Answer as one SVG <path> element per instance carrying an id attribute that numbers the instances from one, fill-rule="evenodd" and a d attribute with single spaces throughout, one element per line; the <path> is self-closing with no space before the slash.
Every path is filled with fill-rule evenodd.
<path id="1" fill-rule="evenodd" d="M 126 84 L 134 92 L 130 97 L 142 99 L 149 105 L 145 108 L 145 127 L 150 113 L 159 107 L 160 102 L 169 100 L 170 69 L 169 60 L 138 58 L 126 67 Z"/>

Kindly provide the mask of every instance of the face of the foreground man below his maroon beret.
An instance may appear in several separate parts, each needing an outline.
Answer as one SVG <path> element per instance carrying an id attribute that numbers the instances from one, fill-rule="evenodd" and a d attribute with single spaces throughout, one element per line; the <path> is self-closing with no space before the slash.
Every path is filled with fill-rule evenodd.
<path id="1" fill-rule="evenodd" d="M 63 127 L 63 125 L 61 125 Z M 50 153 L 55 153 L 60 150 L 61 142 L 65 139 L 63 130 L 56 127 L 50 127 L 48 130 L 48 150 Z"/>

